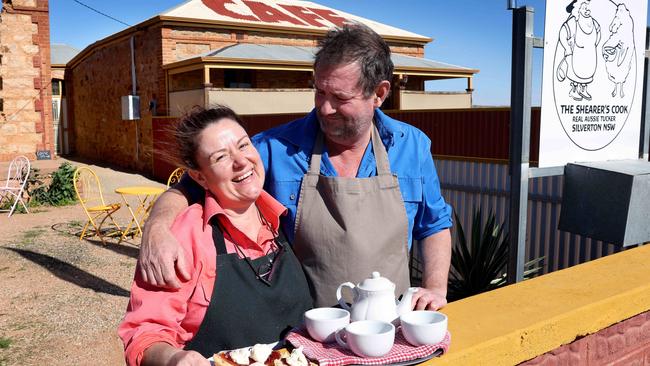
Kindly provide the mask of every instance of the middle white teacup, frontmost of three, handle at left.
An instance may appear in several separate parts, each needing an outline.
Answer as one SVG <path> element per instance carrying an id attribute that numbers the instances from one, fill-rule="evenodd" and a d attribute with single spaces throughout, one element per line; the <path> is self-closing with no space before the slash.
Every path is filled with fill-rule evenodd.
<path id="1" fill-rule="evenodd" d="M 336 341 L 357 356 L 381 357 L 393 348 L 395 326 L 380 320 L 352 322 L 344 329 L 336 331 Z"/>

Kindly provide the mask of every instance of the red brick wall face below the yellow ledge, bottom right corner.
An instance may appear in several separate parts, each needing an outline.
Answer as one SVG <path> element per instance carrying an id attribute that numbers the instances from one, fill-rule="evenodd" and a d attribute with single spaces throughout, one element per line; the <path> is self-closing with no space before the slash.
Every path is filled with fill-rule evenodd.
<path id="1" fill-rule="evenodd" d="M 521 365 L 650 365 L 650 312 L 579 338 Z"/>

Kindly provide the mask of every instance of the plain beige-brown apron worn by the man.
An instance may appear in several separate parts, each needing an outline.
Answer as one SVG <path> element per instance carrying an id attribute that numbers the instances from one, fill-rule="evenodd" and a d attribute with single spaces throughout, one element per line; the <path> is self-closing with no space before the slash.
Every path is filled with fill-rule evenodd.
<path id="1" fill-rule="evenodd" d="M 341 283 L 359 283 L 373 271 L 396 284 L 396 296 L 409 287 L 406 209 L 374 125 L 371 142 L 377 176 L 326 177 L 320 175 L 322 132 L 316 137 L 300 188 L 293 242 L 315 306 L 336 304 Z"/>

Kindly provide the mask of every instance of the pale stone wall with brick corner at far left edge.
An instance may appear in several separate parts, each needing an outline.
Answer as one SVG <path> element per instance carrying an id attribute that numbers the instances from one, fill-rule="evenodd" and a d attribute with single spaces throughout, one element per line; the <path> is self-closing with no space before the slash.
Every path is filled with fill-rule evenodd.
<path id="1" fill-rule="evenodd" d="M 0 161 L 54 155 L 47 0 L 2 0 Z"/>

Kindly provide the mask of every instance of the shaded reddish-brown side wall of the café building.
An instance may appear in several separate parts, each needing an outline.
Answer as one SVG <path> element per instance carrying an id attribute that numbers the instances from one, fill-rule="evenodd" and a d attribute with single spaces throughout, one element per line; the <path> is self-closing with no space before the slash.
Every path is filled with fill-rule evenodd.
<path id="1" fill-rule="evenodd" d="M 130 36 L 126 35 L 73 60 L 66 70 L 69 120 L 74 152 L 96 162 L 151 171 L 150 103 L 165 94 L 160 28 L 132 33 L 136 65 L 136 95 L 141 119 L 122 120 L 121 97 L 132 93 Z M 153 104 L 153 103 L 152 103 Z M 160 111 L 160 104 L 158 104 Z M 137 129 L 137 137 L 136 137 Z"/>

